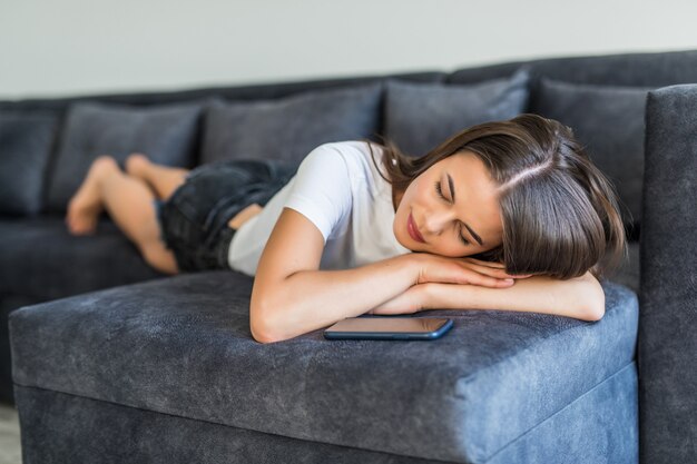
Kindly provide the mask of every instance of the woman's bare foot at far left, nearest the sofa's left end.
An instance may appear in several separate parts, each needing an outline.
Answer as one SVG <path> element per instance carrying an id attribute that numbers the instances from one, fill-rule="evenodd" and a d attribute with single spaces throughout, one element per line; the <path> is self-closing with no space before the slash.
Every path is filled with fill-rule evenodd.
<path id="1" fill-rule="evenodd" d="M 97 229 L 97 219 L 104 209 L 99 194 L 99 181 L 105 172 L 119 169 L 110 156 L 100 156 L 92 161 L 82 185 L 68 204 L 66 225 L 72 235 L 90 235 Z"/>

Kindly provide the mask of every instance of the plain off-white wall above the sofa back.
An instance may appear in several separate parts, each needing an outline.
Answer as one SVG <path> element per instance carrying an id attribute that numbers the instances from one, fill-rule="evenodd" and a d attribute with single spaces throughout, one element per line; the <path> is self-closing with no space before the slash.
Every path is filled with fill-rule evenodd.
<path id="1" fill-rule="evenodd" d="M 697 49 L 697 1 L 0 0 L 0 98 Z"/>

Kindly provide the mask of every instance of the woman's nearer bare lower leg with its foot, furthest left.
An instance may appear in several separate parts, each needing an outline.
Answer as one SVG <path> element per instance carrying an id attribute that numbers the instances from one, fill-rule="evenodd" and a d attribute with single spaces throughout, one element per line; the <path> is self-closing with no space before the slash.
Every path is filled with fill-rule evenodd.
<path id="1" fill-rule="evenodd" d="M 160 240 L 154 199 L 148 186 L 124 174 L 114 158 L 99 157 L 70 200 L 66 218 L 68 228 L 75 235 L 92 233 L 97 217 L 105 208 L 150 266 L 163 273 L 177 274 L 174 253 Z"/>

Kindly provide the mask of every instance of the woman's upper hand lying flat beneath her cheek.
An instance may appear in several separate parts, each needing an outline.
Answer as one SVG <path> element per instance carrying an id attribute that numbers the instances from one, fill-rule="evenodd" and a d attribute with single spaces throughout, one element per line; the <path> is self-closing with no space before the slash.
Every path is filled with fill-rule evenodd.
<path id="1" fill-rule="evenodd" d="M 507 288 L 513 285 L 516 278 L 530 277 L 530 275 L 513 276 L 507 274 L 501 263 L 482 261 L 474 258 L 450 258 L 431 254 L 412 254 L 412 256 L 420 268 L 416 284 L 433 282 Z"/>

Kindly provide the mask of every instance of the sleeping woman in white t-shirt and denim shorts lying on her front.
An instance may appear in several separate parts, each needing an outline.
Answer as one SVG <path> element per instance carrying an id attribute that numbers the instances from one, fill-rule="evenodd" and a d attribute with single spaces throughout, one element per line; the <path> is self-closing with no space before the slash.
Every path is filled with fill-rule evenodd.
<path id="1" fill-rule="evenodd" d="M 625 253 L 611 185 L 570 129 L 534 115 L 465 129 L 421 158 L 351 141 L 318 147 L 297 172 L 251 160 L 187 172 L 143 156 L 126 170 L 95 161 L 70 230 L 94 230 L 106 207 L 163 272 L 254 275 L 251 330 L 264 343 L 429 308 L 598 320 L 597 278 Z"/>

